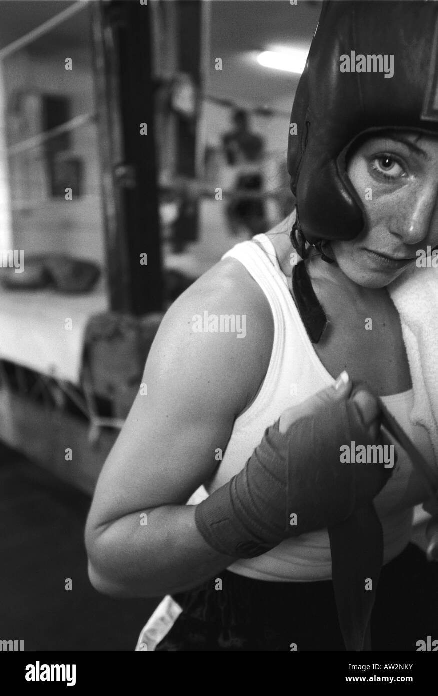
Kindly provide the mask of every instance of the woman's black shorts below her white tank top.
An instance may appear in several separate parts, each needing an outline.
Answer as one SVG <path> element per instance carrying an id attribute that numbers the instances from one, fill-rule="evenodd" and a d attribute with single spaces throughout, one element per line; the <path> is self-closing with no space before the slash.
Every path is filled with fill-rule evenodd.
<path id="1" fill-rule="evenodd" d="M 331 580 L 272 583 L 222 571 L 173 599 L 182 613 L 156 650 L 345 651 Z M 438 563 L 409 544 L 382 569 L 373 651 L 416 651 L 428 635 L 438 640 Z"/>

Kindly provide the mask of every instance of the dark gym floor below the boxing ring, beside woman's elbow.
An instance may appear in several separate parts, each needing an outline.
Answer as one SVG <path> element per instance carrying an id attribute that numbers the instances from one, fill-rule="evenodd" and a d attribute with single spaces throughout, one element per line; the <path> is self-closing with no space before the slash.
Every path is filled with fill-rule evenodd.
<path id="1" fill-rule="evenodd" d="M 93 589 L 84 548 L 90 503 L 0 442 L 0 640 L 24 640 L 25 651 L 134 650 L 159 599 Z"/>

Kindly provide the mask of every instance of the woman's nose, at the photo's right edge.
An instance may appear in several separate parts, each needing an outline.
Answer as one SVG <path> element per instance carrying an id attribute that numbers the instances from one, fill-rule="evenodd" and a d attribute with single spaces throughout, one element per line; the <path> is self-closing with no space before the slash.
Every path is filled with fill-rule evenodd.
<path id="1" fill-rule="evenodd" d="M 398 208 L 394 235 L 402 237 L 405 244 L 420 244 L 427 239 L 430 230 L 438 225 L 438 186 L 422 187 Z"/>

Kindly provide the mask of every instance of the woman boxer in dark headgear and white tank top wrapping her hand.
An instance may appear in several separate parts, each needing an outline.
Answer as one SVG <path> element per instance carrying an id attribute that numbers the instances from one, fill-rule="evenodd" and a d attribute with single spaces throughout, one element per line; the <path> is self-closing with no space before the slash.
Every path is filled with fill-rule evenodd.
<path id="1" fill-rule="evenodd" d="M 438 245 L 437 10 L 324 4 L 292 109 L 296 211 L 228 252 L 159 328 L 86 528 L 97 590 L 173 597 L 157 650 L 438 638 L 437 574 L 410 544 L 421 477 L 400 447 L 393 468 L 340 457 L 394 446 L 378 395 L 436 466 L 409 418 L 391 287 Z M 341 72 L 352 50 L 393 55 L 393 77 Z M 201 484 L 208 497 L 185 505 Z"/>

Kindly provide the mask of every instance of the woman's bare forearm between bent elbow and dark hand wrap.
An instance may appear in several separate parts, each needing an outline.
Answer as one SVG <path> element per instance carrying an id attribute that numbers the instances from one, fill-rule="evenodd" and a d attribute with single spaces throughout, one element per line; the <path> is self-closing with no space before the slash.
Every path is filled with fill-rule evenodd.
<path id="1" fill-rule="evenodd" d="M 214 578 L 235 558 L 214 551 L 196 528 L 195 505 L 135 512 L 87 532 L 88 574 L 99 592 L 162 596 Z"/>

